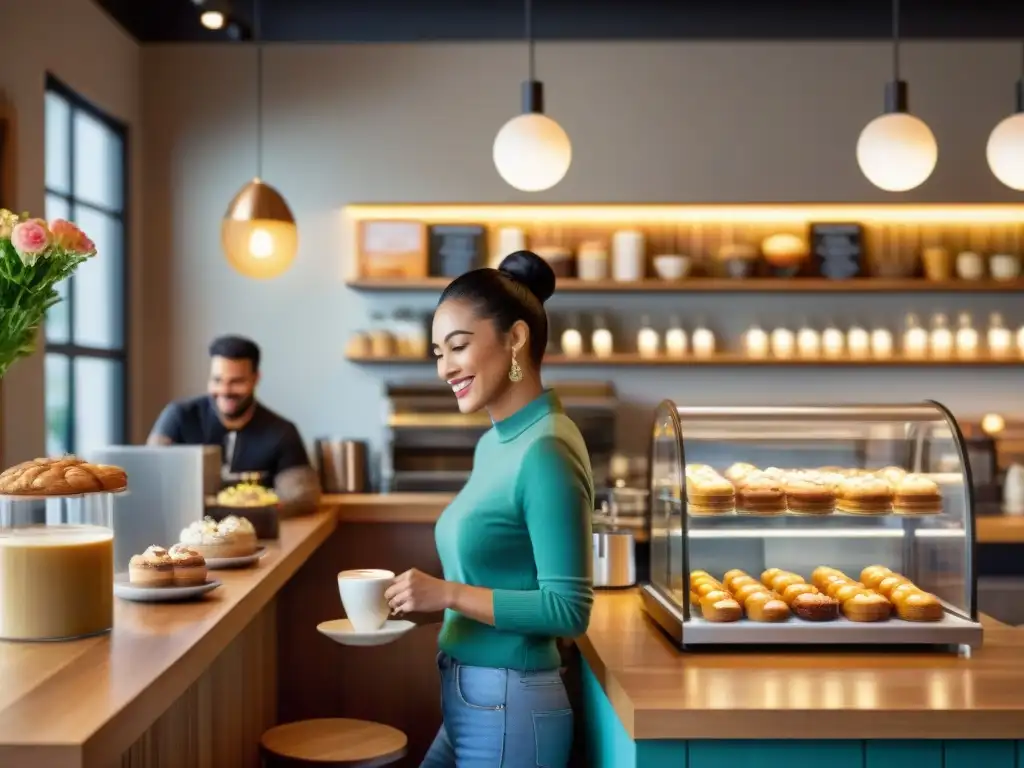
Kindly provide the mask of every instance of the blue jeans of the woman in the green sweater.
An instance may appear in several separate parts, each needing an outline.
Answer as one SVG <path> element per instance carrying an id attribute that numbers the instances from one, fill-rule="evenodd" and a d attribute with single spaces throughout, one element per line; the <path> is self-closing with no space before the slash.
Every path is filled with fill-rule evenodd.
<path id="1" fill-rule="evenodd" d="M 420 768 L 565 768 L 572 710 L 558 670 L 466 667 L 437 654 L 444 722 Z"/>

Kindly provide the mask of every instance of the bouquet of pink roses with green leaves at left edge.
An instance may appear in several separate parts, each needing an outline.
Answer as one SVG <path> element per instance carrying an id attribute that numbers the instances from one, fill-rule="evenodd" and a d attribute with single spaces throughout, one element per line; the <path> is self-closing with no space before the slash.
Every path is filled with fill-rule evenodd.
<path id="1" fill-rule="evenodd" d="M 15 216 L 0 209 L 0 378 L 32 354 L 46 310 L 60 301 L 56 284 L 96 255 L 70 221 Z"/>

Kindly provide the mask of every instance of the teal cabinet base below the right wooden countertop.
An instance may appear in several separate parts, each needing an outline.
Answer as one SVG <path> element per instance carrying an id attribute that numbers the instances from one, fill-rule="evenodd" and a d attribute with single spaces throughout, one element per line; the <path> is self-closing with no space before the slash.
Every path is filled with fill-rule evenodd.
<path id="1" fill-rule="evenodd" d="M 589 768 L 1024 768 L 1024 740 L 1014 739 L 634 740 L 593 670 L 582 664 Z"/>

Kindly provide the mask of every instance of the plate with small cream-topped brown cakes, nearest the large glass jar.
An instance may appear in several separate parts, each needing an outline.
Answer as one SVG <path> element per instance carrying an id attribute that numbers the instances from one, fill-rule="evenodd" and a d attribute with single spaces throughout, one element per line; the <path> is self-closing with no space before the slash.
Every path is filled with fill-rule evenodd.
<path id="1" fill-rule="evenodd" d="M 183 544 L 169 550 L 153 546 L 128 563 L 128 572 L 114 579 L 114 594 L 135 602 L 177 602 L 193 600 L 217 589 L 220 582 L 210 579 L 206 560 Z"/>

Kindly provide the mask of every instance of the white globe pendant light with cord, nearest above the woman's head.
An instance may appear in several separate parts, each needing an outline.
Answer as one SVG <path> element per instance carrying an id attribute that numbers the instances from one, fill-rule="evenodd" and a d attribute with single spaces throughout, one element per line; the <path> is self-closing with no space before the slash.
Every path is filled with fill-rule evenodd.
<path id="1" fill-rule="evenodd" d="M 529 79 L 522 84 L 522 114 L 495 136 L 499 175 L 521 191 L 543 191 L 561 181 L 572 163 L 572 144 L 557 122 L 544 114 L 544 83 L 535 77 L 532 2 L 525 0 Z"/>

